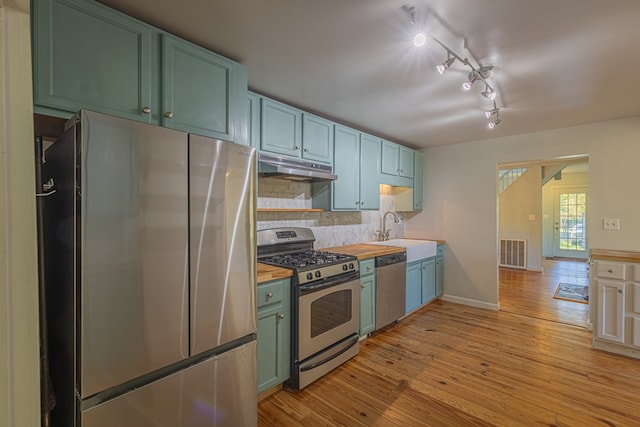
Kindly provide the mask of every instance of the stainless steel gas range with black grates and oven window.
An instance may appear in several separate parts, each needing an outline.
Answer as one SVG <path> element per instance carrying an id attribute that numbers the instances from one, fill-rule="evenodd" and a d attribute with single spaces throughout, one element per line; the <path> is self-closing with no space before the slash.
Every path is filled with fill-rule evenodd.
<path id="1" fill-rule="evenodd" d="M 360 269 L 351 255 L 316 251 L 308 228 L 258 231 L 258 261 L 294 271 L 291 378 L 301 390 L 358 354 Z"/>

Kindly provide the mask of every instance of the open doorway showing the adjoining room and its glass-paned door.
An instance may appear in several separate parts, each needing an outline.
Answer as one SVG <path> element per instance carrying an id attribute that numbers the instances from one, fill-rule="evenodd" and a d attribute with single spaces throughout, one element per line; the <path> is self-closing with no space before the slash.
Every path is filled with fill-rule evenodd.
<path id="1" fill-rule="evenodd" d="M 561 282 L 588 283 L 587 159 L 500 165 L 498 178 L 514 167 L 527 172 L 499 195 L 498 232 L 526 240 L 528 262 L 525 270 L 499 268 L 500 309 L 586 327 L 588 304 L 554 296 Z"/>

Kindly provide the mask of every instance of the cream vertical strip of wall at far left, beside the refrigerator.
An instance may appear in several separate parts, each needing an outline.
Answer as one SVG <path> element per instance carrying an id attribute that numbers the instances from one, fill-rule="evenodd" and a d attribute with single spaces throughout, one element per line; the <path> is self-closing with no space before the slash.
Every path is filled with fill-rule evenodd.
<path id="1" fill-rule="evenodd" d="M 40 425 L 29 0 L 0 0 L 0 426 Z"/>

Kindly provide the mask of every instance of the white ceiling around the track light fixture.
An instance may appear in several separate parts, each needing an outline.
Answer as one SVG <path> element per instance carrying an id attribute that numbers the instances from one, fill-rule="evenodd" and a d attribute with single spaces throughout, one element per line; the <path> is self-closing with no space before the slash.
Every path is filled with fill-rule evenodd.
<path id="1" fill-rule="evenodd" d="M 101 2 L 245 64 L 256 92 L 416 148 L 640 115 L 638 0 Z M 495 129 L 468 68 L 441 76 L 446 51 L 413 46 L 422 25 L 495 67 Z"/>

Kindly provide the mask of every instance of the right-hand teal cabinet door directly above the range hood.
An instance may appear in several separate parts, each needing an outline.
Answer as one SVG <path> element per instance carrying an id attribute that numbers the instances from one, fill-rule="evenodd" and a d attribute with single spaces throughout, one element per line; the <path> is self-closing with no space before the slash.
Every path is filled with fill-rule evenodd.
<path id="1" fill-rule="evenodd" d="M 302 113 L 302 157 L 331 163 L 333 158 L 333 122 Z"/>

